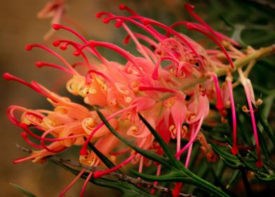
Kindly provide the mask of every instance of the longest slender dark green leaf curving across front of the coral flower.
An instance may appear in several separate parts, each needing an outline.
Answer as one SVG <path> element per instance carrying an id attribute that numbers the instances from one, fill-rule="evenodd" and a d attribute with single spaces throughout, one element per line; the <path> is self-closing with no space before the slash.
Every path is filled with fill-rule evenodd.
<path id="1" fill-rule="evenodd" d="M 95 110 L 98 113 L 98 116 L 100 117 L 102 122 L 104 122 L 106 127 L 109 129 L 109 131 L 112 132 L 112 134 L 114 134 L 114 136 L 116 136 L 118 139 L 120 139 L 124 144 L 126 144 L 127 146 L 130 146 L 130 148 L 133 148 L 135 151 L 137 151 L 137 153 L 140 153 L 141 155 L 144 155 L 146 158 L 154 160 L 157 163 L 159 163 L 161 165 L 164 165 L 167 168 L 170 168 L 170 164 L 167 162 L 168 161 L 167 158 L 164 158 L 163 156 L 157 155 L 156 153 L 146 151 L 145 149 L 142 149 L 140 147 L 137 147 L 137 146 L 133 145 L 132 143 L 130 143 L 126 139 L 123 139 L 123 137 L 120 134 L 118 134 L 116 132 L 116 130 L 109 124 L 109 122 L 106 120 L 104 115 L 102 115 L 100 110 L 98 110 L 98 109 L 95 109 Z"/>

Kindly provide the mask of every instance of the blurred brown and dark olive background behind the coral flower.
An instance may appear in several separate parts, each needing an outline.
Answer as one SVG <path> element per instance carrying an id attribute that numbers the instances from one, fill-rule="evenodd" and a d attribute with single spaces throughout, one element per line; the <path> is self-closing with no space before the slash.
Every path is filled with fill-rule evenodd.
<path id="1" fill-rule="evenodd" d="M 45 51 L 35 49 L 25 51 L 25 45 L 32 43 L 51 46 L 54 38 L 68 37 L 75 39 L 71 34 L 58 32 L 47 42 L 43 41 L 43 35 L 51 28 L 51 19 L 38 19 L 36 14 L 46 4 L 46 0 L 9 0 L 0 2 L 0 74 L 10 72 L 27 82 L 32 80 L 39 82 L 48 89 L 65 93 L 65 80 L 67 76 L 52 68 L 36 68 L 36 61 L 58 61 Z M 67 1 L 66 15 L 80 25 L 79 32 L 85 34 L 88 39 L 113 42 L 123 46 L 125 32 L 117 29 L 112 24 L 104 24 L 95 18 L 99 11 L 111 11 L 119 13 L 119 4 L 126 4 L 138 13 L 167 25 L 178 20 L 192 20 L 184 10 L 187 1 L 180 0 L 151 0 L 151 1 L 117 1 L 117 0 L 70 0 Z M 274 13 L 275 6 L 272 1 L 188 1 L 196 6 L 196 13 L 206 20 L 215 30 L 219 30 L 233 37 L 243 46 L 252 45 L 267 46 L 274 43 Z M 222 3 L 221 3 L 222 2 Z M 127 15 L 127 14 L 126 14 Z M 74 27 L 72 23 L 62 20 L 62 24 Z M 74 27 L 76 28 L 76 27 Z M 135 29 L 136 27 L 133 27 Z M 76 28 L 77 29 L 77 28 Z M 181 30 L 180 28 L 178 29 Z M 187 32 L 182 28 L 182 32 Z M 187 32 L 189 34 L 189 32 Z M 192 34 L 191 34 L 192 36 Z M 200 38 L 199 38 L 200 39 Z M 203 38 L 201 38 L 203 42 Z M 130 46 L 127 46 L 130 47 Z M 67 61 L 74 61 L 70 53 L 62 52 Z M 111 54 L 112 56 L 112 54 Z M 264 84 L 267 89 L 274 89 L 274 65 L 272 59 L 262 61 L 251 74 L 255 84 Z M 264 67 L 264 68 L 263 68 Z M 265 75 L 267 73 L 269 75 Z M 259 77 L 264 76 L 264 77 Z M 18 184 L 34 193 L 36 196 L 58 196 L 62 189 L 74 179 L 74 175 L 53 165 L 43 165 L 25 162 L 14 165 L 12 160 L 21 158 L 22 153 L 15 144 L 26 146 L 21 139 L 20 129 L 13 126 L 6 117 L 6 108 L 10 105 L 23 106 L 25 108 L 51 108 L 46 99 L 32 89 L 28 89 L 16 82 L 6 82 L 0 78 L 0 196 L 22 196 L 9 183 Z M 272 106 L 272 104 L 271 104 Z M 274 111 L 274 107 L 269 110 Z M 270 120 L 274 120 L 271 113 Z M 66 196 L 79 196 L 82 180 L 67 192 Z M 88 185 L 86 196 L 119 196 L 120 193 L 99 186 Z"/>

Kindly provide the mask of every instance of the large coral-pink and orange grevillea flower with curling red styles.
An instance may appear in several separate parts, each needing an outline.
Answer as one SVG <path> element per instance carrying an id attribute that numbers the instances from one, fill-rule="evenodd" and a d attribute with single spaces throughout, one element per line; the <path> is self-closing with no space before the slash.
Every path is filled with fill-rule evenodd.
<path id="1" fill-rule="evenodd" d="M 128 36 L 125 43 L 128 44 L 130 39 L 133 40 L 140 56 L 134 56 L 115 44 L 86 40 L 78 32 L 60 24 L 53 24 L 53 30 L 71 32 L 79 39 L 79 42 L 60 39 L 53 42 L 53 46 L 60 47 L 61 50 L 67 50 L 68 46 L 72 46 L 73 55 L 81 57 L 80 62 L 70 64 L 59 53 L 39 44 L 28 45 L 26 49 L 29 51 L 34 48 L 43 49 L 58 58 L 65 67 L 41 61 L 37 62 L 36 65 L 39 68 L 50 66 L 67 72 L 71 76 L 66 84 L 67 90 L 71 94 L 81 96 L 88 106 L 100 108 L 112 127 L 121 136 L 133 141 L 136 146 L 155 151 L 158 154 L 163 153 L 157 142 L 154 141 L 154 136 L 138 117 L 138 113 L 140 113 L 159 132 L 166 143 L 170 143 L 170 139 L 177 141 L 175 156 L 178 160 L 181 159 L 180 155 L 188 149 L 185 167 L 189 165 L 192 145 L 196 140 L 201 143 L 201 150 L 206 158 L 210 162 L 214 162 L 216 155 L 209 146 L 206 137 L 200 132 L 201 126 L 203 120 L 208 116 L 210 102 L 216 103 L 216 108 L 222 116 L 225 116 L 224 113 L 227 108 L 231 108 L 234 136 L 232 153 L 238 153 L 236 113 L 230 73 L 234 70 L 232 60 L 242 58 L 244 55 L 234 48 L 234 45 L 239 46 L 239 44 L 214 31 L 199 18 L 193 11 L 194 6 L 187 4 L 185 7 L 200 24 L 179 22 L 169 27 L 156 20 L 142 17 L 123 5 L 119 8 L 128 11 L 130 16 L 125 17 L 107 12 L 96 15 L 98 18 L 102 18 L 104 23 L 114 21 L 116 27 L 122 27 L 126 30 Z M 51 16 L 55 15 L 56 20 L 59 20 L 57 15 L 62 12 L 60 9 L 62 9 L 60 6 L 49 4 L 39 15 L 44 17 L 51 13 Z M 54 13 L 52 13 L 53 11 Z M 129 23 L 140 27 L 149 36 L 132 32 L 128 27 Z M 177 25 L 185 25 L 189 30 L 195 30 L 206 35 L 217 44 L 220 50 L 204 49 L 193 39 L 174 30 L 173 27 Z M 161 28 L 167 33 L 162 34 L 155 27 Z M 224 47 L 224 42 L 227 43 L 227 49 Z M 126 59 L 126 63 L 121 64 L 108 60 L 98 51 L 98 47 L 104 47 L 118 53 Z M 98 60 L 91 60 L 90 55 Z M 162 64 L 163 62 L 166 64 Z M 80 73 L 74 68 L 74 65 L 86 66 L 86 72 Z M 222 84 L 221 89 L 215 74 L 219 68 L 228 69 L 226 82 Z M 259 158 L 257 165 L 260 167 L 262 165 L 260 148 L 252 106 L 252 103 L 255 104 L 255 98 L 250 82 L 243 77 L 240 70 L 239 72 L 241 83 L 248 98 L 257 143 Z M 15 160 L 15 163 L 25 160 L 32 160 L 34 163 L 40 162 L 46 156 L 65 151 L 70 146 L 81 146 L 80 163 L 94 167 L 102 165 L 97 155 L 87 148 L 88 143 L 91 142 L 101 153 L 112 160 L 116 167 L 94 174 L 91 172 L 83 186 L 81 196 L 89 177 L 92 175 L 95 178 L 102 177 L 130 162 L 139 163 L 140 172 L 142 172 L 144 165 L 151 165 L 147 158 L 130 150 L 130 148 L 117 146 L 119 140 L 109 132 L 95 110 L 90 110 L 90 108 L 70 101 L 67 97 L 55 94 L 37 82 L 28 83 L 8 73 L 4 74 L 4 78 L 25 84 L 45 96 L 53 105 L 53 110 L 31 110 L 20 106 L 8 108 L 8 117 L 11 122 L 22 128 L 23 139 L 30 146 L 36 148 L 32 155 Z M 199 84 L 196 83 L 200 79 L 204 80 Z M 189 84 L 194 85 L 189 86 Z M 15 115 L 16 111 L 21 113 L 20 118 Z M 34 130 L 38 130 L 39 134 L 34 133 Z M 39 143 L 33 139 L 38 139 Z M 182 146 L 181 139 L 187 139 L 189 142 Z M 128 155 L 128 158 L 121 161 L 123 158 L 121 155 Z M 82 170 L 76 179 L 83 172 L 85 170 Z M 158 165 L 156 174 L 161 174 L 161 165 Z M 63 196 L 72 184 L 69 184 L 60 196 Z M 174 196 L 178 195 L 181 186 L 181 184 L 175 184 Z"/>

